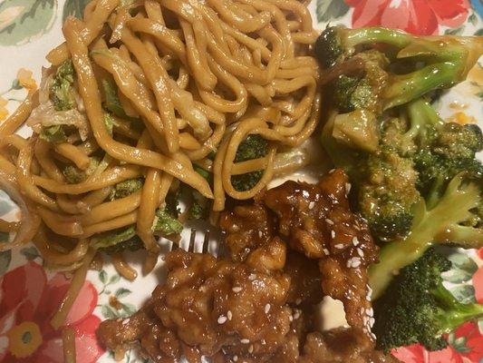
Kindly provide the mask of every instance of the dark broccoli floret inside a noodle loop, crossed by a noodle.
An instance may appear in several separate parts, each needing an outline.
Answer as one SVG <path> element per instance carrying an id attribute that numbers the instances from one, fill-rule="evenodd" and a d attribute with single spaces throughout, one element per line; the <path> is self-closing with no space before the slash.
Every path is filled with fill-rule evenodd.
<path id="1" fill-rule="evenodd" d="M 235 162 L 246 162 L 248 160 L 259 159 L 266 156 L 268 152 L 268 142 L 258 135 L 248 135 L 244 142 L 238 146 Z M 246 172 L 245 174 L 234 175 L 231 183 L 236 191 L 249 191 L 262 179 L 263 171 Z"/>

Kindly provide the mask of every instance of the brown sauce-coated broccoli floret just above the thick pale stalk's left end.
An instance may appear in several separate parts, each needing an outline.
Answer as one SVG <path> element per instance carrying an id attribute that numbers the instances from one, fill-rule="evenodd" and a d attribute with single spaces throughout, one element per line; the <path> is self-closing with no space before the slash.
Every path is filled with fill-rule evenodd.
<path id="1" fill-rule="evenodd" d="M 369 155 L 362 168 L 358 195 L 362 217 L 381 240 L 404 237 L 411 230 L 412 207 L 420 201 L 413 163 L 383 148 Z"/>

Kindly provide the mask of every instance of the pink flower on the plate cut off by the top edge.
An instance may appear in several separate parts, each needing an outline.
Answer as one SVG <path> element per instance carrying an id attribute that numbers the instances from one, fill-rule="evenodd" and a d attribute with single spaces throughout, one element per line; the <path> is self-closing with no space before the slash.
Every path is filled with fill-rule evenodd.
<path id="1" fill-rule="evenodd" d="M 468 0 L 345 0 L 354 8 L 353 27 L 382 25 L 412 34 L 437 34 L 440 25 L 462 25 Z"/>

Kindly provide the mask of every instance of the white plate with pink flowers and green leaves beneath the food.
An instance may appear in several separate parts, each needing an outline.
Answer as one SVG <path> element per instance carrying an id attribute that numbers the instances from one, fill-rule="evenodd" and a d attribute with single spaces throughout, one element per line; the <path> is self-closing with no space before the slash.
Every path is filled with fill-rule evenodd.
<path id="1" fill-rule="evenodd" d="M 40 79 L 41 67 L 47 65 L 44 55 L 62 41 L 63 19 L 81 15 L 86 3 L 0 0 L 0 121 L 23 99 L 25 89 L 35 87 Z M 331 23 L 384 25 L 415 34 L 483 34 L 481 0 L 314 0 L 310 9 L 321 29 Z M 478 64 L 466 83 L 442 98 L 440 113 L 458 122 L 479 119 L 482 125 L 482 99 L 483 69 Z M 14 203 L 0 191 L 0 216 L 15 213 Z M 137 256 L 132 260 L 140 270 Z M 454 250 L 450 260 L 453 268 L 444 276 L 450 291 L 458 299 L 483 303 L 483 249 Z M 138 309 L 164 274 L 161 266 L 150 276 L 129 282 L 109 263 L 100 272 L 89 273 L 66 321 L 75 330 L 78 362 L 113 362 L 111 354 L 97 344 L 95 329 L 102 319 L 126 317 Z M 43 260 L 32 245 L 0 253 L 0 362 L 63 361 L 61 337 L 49 320 L 68 284 L 63 273 L 43 270 Z M 112 304 L 115 308 L 110 304 L 114 298 L 119 301 Z M 393 354 L 405 363 L 483 363 L 483 320 L 463 324 L 448 340 L 449 348 L 438 352 L 413 345 Z M 124 361 L 143 359 L 127 352 Z"/>

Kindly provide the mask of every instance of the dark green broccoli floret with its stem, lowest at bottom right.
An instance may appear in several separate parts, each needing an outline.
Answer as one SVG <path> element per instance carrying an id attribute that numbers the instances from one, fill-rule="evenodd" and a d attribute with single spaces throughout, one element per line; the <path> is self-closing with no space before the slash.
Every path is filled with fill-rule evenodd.
<path id="1" fill-rule="evenodd" d="M 434 249 L 401 270 L 374 303 L 377 348 L 421 343 L 430 350 L 446 348 L 442 337 L 463 322 L 483 317 L 483 305 L 463 304 L 442 284 L 441 273 L 451 262 Z"/>

